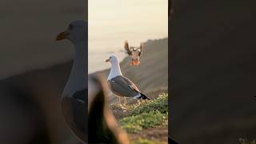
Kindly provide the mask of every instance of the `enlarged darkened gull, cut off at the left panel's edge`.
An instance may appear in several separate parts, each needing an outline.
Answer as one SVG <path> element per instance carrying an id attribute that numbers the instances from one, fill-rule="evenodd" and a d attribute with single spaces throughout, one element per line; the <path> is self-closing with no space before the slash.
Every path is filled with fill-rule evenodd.
<path id="1" fill-rule="evenodd" d="M 79 20 L 71 22 L 68 29 L 56 38 L 56 41 L 68 39 L 74 45 L 72 70 L 62 92 L 62 111 L 74 134 L 84 142 L 87 137 L 87 34 L 87 23 Z"/>

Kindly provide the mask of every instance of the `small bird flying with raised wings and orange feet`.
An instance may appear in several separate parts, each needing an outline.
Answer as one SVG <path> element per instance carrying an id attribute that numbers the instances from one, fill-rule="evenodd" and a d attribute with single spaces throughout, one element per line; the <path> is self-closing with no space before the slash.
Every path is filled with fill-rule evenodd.
<path id="1" fill-rule="evenodd" d="M 139 58 L 142 54 L 142 43 L 139 47 L 134 47 L 134 46 L 130 46 L 128 42 L 125 42 L 125 50 L 127 52 L 127 54 L 130 56 L 131 58 L 131 62 L 130 62 L 130 66 L 138 66 L 141 62 L 139 61 Z"/>

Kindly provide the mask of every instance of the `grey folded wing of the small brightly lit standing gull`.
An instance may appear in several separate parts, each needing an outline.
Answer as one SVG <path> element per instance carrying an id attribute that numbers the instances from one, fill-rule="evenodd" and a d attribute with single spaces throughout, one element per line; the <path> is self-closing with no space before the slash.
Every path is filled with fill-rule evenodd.
<path id="1" fill-rule="evenodd" d="M 108 81 L 110 90 L 122 97 L 134 97 L 139 94 L 137 86 L 134 85 L 128 78 L 118 76 Z"/>

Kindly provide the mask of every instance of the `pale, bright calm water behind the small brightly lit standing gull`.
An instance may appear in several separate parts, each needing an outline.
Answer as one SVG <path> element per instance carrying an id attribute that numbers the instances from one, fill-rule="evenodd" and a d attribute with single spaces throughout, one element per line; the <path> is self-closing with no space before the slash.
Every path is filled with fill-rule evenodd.
<path id="1" fill-rule="evenodd" d="M 168 36 L 167 0 L 89 0 L 89 73 L 110 67 L 106 58 L 126 56 L 123 43 L 139 46 Z"/>

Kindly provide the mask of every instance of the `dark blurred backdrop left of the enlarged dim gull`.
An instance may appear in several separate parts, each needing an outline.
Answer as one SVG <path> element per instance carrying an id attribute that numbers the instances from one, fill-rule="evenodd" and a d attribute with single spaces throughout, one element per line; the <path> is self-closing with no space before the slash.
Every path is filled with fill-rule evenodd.
<path id="1" fill-rule="evenodd" d="M 86 3 L 0 2 L 1 143 L 80 143 L 60 106 L 74 48 L 55 38 L 70 22 L 87 19 Z"/>

